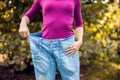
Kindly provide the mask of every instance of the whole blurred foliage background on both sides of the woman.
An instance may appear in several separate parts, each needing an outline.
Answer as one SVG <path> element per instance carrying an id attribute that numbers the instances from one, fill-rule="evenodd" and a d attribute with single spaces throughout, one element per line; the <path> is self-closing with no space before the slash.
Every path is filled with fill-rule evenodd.
<path id="1" fill-rule="evenodd" d="M 81 2 L 84 21 L 84 40 L 79 50 L 81 80 L 120 80 L 117 1 Z M 32 3 L 33 0 L 0 0 L 0 80 L 34 80 L 29 41 L 18 34 L 21 18 Z M 42 29 L 41 11 L 29 29 L 31 33 Z"/>

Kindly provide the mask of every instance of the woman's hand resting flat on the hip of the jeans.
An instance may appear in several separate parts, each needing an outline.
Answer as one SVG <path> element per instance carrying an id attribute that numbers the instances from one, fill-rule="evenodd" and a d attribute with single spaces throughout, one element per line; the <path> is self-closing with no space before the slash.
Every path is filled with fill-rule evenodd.
<path id="1" fill-rule="evenodd" d="M 67 54 L 68 55 L 75 54 L 77 51 L 79 51 L 81 45 L 82 45 L 82 41 L 76 41 L 66 50 Z"/>

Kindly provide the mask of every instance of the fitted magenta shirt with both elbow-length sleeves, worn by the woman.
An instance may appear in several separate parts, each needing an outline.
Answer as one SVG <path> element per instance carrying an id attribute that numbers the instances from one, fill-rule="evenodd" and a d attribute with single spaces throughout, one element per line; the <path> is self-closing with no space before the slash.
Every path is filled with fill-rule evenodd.
<path id="1" fill-rule="evenodd" d="M 83 27 L 80 0 L 35 0 L 25 16 L 32 21 L 40 10 L 43 15 L 43 38 L 67 38 L 73 35 L 73 27 Z"/>

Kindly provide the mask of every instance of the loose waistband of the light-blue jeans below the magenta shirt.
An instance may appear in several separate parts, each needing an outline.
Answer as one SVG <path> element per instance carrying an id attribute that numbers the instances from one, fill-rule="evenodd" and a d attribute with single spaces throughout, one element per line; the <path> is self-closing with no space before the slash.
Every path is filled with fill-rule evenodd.
<path id="1" fill-rule="evenodd" d="M 46 38 L 42 37 L 42 32 L 32 33 L 32 34 L 29 35 L 29 37 L 37 37 L 38 39 L 41 39 L 42 41 L 49 42 L 49 43 L 60 42 L 60 41 L 64 41 L 64 40 L 75 40 L 75 36 L 74 35 L 72 35 L 70 37 L 67 37 L 67 38 L 46 39 Z"/>

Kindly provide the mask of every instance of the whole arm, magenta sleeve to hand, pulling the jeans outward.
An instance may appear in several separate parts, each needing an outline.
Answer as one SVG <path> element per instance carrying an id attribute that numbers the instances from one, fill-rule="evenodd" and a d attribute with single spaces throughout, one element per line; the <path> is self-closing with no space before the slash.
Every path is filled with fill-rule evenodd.
<path id="1" fill-rule="evenodd" d="M 39 0 L 34 0 L 34 3 L 32 4 L 31 8 L 24 14 L 24 16 L 21 19 L 20 28 L 18 32 L 22 37 L 28 37 L 30 32 L 27 25 L 33 20 L 33 18 L 41 10 L 41 7 L 38 1 Z"/>

